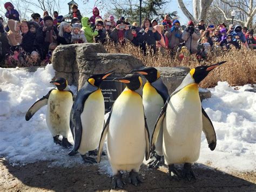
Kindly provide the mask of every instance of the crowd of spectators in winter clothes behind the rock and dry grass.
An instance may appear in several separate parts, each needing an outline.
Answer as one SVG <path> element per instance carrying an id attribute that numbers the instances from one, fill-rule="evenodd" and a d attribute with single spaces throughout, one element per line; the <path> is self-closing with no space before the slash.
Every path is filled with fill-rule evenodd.
<path id="1" fill-rule="evenodd" d="M 255 44 L 253 30 L 240 25 L 223 23 L 218 26 L 205 25 L 204 20 L 194 24 L 192 20 L 187 26 L 180 25 L 179 20 L 173 20 L 168 15 L 159 22 L 157 19 L 145 18 L 141 26 L 136 22 L 130 24 L 129 18 L 114 16 L 103 19 L 97 8 L 92 16 L 82 17 L 78 6 L 72 5 L 71 23 L 65 22 L 63 16 L 48 11 L 33 13 L 31 20 L 20 20 L 19 13 L 12 3 L 4 4 L 5 17 L 8 19 L 4 26 L 0 17 L 0 56 L 6 65 L 19 63 L 26 65 L 40 65 L 51 62 L 54 49 L 62 44 L 80 44 L 84 42 L 98 42 L 100 44 L 125 45 L 131 42 L 139 47 L 146 56 L 154 54 L 159 49 L 170 49 L 170 56 L 179 56 L 183 52 L 197 54 L 199 58 L 207 58 L 207 53 L 215 49 L 227 51 L 242 46 L 252 48 Z"/>

